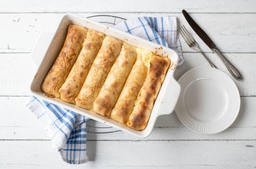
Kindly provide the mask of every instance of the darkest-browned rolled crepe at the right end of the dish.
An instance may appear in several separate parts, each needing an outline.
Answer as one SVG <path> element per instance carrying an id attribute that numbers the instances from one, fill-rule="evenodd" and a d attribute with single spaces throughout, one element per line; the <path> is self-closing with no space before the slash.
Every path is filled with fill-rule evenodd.
<path id="1" fill-rule="evenodd" d="M 150 60 L 148 75 L 141 91 L 139 91 L 135 107 L 127 123 L 132 129 L 142 130 L 147 126 L 154 102 L 169 66 L 170 60 L 168 58 L 154 55 Z"/>

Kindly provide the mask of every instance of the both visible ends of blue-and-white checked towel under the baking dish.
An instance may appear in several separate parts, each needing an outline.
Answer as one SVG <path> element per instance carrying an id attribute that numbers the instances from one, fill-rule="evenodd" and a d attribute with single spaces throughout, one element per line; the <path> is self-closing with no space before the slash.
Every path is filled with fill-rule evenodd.
<path id="1" fill-rule="evenodd" d="M 138 17 L 115 27 L 162 46 L 172 48 L 183 63 L 181 44 L 177 36 L 176 17 Z M 42 121 L 53 147 L 69 164 L 82 164 L 86 156 L 86 117 L 52 103 L 31 97 L 27 107 Z"/>

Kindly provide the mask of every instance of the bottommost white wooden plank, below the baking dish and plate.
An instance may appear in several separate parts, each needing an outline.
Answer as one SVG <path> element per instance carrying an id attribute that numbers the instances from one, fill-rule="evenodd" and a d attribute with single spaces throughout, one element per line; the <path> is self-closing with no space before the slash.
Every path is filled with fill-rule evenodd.
<path id="1" fill-rule="evenodd" d="M 92 166 L 144 168 L 253 168 L 256 166 L 256 141 L 100 141 L 88 142 L 90 162 L 77 167 Z M 18 166 L 67 168 L 51 142 L 1 141 L 1 168 Z M 158 158 L 158 157 L 161 158 Z M 237 158 L 234 158 L 237 157 Z"/>

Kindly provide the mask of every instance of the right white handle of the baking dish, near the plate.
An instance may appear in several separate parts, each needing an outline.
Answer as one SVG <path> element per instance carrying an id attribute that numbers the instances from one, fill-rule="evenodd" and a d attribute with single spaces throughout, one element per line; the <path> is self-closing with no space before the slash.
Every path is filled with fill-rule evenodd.
<path id="1" fill-rule="evenodd" d="M 172 76 L 170 78 L 170 84 L 164 93 L 164 97 L 162 97 L 161 105 L 158 110 L 158 115 L 169 115 L 174 110 L 176 103 L 179 99 L 179 95 L 181 93 L 181 86 Z"/>

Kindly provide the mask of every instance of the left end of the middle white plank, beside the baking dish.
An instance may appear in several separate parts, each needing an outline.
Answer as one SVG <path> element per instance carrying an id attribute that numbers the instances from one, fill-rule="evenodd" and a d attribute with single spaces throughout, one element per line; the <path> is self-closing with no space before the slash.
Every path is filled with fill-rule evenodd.
<path id="1" fill-rule="evenodd" d="M 30 54 L 0 54 L 0 95 L 30 95 L 36 65 Z"/>

